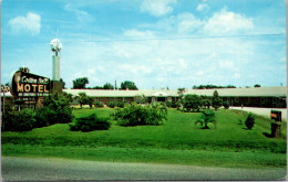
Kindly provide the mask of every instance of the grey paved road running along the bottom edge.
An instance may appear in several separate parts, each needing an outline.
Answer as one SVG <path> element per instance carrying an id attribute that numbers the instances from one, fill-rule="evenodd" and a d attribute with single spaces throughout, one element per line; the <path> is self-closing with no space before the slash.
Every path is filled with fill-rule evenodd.
<path id="1" fill-rule="evenodd" d="M 60 180 L 276 180 L 285 169 L 207 168 L 58 158 L 2 157 L 4 181 Z"/>

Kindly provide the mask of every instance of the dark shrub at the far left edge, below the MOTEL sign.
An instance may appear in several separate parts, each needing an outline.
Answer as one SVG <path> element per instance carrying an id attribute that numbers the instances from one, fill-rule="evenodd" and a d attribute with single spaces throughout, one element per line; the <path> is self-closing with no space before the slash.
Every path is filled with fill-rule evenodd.
<path id="1" fill-rule="evenodd" d="M 23 109 L 21 111 L 6 111 L 2 116 L 4 131 L 29 131 L 34 128 L 35 113 L 33 109 Z"/>

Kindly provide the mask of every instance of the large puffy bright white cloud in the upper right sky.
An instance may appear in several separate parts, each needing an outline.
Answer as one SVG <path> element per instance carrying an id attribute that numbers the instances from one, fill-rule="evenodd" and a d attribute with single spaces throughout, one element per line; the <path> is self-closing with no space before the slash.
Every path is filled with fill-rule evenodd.
<path id="1" fill-rule="evenodd" d="M 213 14 L 213 17 L 204 25 L 204 31 L 208 34 L 225 34 L 247 31 L 253 28 L 254 23 L 251 19 L 223 9 L 220 12 Z"/>

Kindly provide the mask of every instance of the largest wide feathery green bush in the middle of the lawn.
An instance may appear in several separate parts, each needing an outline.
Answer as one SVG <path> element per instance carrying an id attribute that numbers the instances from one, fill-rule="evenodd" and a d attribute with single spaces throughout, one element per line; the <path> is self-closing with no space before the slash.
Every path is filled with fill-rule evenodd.
<path id="1" fill-rule="evenodd" d="M 167 108 L 153 104 L 140 106 L 132 104 L 123 109 L 115 109 L 115 119 L 120 126 L 162 125 L 167 120 Z"/>

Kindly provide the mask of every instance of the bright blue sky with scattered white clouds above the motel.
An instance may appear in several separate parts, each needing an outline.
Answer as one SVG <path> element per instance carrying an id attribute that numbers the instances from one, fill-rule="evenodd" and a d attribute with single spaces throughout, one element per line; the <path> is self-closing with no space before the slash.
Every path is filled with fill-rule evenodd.
<path id="1" fill-rule="evenodd" d="M 2 0 L 1 83 L 20 66 L 88 87 L 286 85 L 285 0 Z"/>

